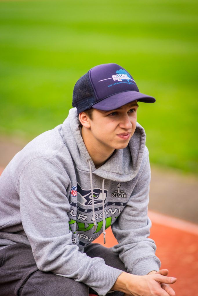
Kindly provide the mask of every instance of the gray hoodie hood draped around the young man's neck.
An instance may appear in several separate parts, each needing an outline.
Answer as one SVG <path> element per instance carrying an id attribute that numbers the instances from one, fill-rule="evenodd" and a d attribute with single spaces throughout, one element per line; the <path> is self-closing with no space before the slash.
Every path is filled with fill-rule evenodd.
<path id="1" fill-rule="evenodd" d="M 69 110 L 69 115 L 62 125 L 65 144 L 79 170 L 89 172 L 88 159 L 91 157 L 81 136 L 77 109 Z M 127 182 L 137 176 L 145 150 L 145 131 L 137 123 L 136 130 L 124 149 L 116 149 L 113 155 L 99 168 L 91 160 L 91 170 L 96 176 L 117 182 Z M 71 145 L 72 143 L 72 145 Z M 70 149 L 70 146 L 72 149 Z M 119 161 L 118 161 L 119 160 Z"/>

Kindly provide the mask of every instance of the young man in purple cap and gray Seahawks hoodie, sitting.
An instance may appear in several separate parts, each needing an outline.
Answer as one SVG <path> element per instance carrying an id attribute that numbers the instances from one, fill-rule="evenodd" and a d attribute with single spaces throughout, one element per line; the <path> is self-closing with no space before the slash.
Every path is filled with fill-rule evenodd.
<path id="1" fill-rule="evenodd" d="M 148 238 L 150 166 L 141 94 L 117 64 L 76 83 L 69 116 L 0 178 L 1 295 L 174 296 Z M 111 225 L 118 244 L 92 244 Z M 149 275 L 148 275 L 149 274 Z"/>

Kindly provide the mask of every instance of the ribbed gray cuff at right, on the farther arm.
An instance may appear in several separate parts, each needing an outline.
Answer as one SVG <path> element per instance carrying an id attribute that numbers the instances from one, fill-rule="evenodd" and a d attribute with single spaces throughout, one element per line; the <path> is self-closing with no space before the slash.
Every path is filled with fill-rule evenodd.
<path id="1" fill-rule="evenodd" d="M 160 268 L 160 261 L 153 257 L 142 258 L 134 264 L 133 268 L 129 270 L 130 274 L 136 274 L 137 276 L 144 276 L 149 272 Z"/>

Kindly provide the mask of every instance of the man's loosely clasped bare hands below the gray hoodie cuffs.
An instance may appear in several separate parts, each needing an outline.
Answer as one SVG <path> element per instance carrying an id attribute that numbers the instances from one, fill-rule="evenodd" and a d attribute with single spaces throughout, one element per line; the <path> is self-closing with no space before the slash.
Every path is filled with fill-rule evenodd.
<path id="1" fill-rule="evenodd" d="M 123 272 L 118 276 L 112 290 L 124 292 L 125 296 L 175 296 L 175 292 L 166 284 L 173 284 L 177 279 L 165 276 L 167 273 L 167 269 L 145 276 Z M 161 284 L 164 286 L 161 287 Z"/>

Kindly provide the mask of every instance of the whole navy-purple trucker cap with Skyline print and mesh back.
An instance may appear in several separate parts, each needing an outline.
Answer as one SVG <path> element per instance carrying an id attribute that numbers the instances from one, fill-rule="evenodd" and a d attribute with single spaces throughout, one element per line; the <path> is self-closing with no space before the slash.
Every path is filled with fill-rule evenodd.
<path id="1" fill-rule="evenodd" d="M 102 64 L 91 68 L 74 86 L 72 106 L 78 114 L 96 108 L 110 111 L 137 100 L 154 103 L 152 96 L 140 93 L 133 77 L 117 64 Z"/>

